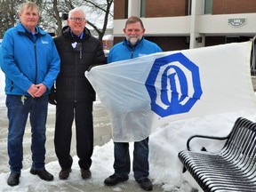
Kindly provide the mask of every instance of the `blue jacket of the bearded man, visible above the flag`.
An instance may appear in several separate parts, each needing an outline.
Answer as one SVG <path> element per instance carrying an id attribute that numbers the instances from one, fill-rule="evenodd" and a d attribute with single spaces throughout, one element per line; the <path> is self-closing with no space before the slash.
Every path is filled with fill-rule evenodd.
<path id="1" fill-rule="evenodd" d="M 108 53 L 108 63 L 118 60 L 129 60 L 141 57 L 155 52 L 162 52 L 162 49 L 155 43 L 146 40 L 144 37 L 139 44 L 130 47 L 126 39 L 123 42 L 115 44 Z"/>

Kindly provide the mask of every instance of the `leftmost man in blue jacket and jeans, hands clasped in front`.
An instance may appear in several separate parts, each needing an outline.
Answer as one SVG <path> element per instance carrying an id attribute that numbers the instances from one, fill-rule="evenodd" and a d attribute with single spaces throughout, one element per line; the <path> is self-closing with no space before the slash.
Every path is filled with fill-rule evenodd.
<path id="1" fill-rule="evenodd" d="M 30 172 L 42 180 L 53 180 L 44 168 L 45 124 L 52 84 L 60 72 L 60 57 L 52 36 L 37 26 L 39 8 L 27 2 L 20 6 L 20 22 L 8 29 L 1 45 L 1 68 L 5 74 L 8 156 L 11 174 L 8 185 L 20 183 L 22 140 L 28 119 L 32 132 Z"/>

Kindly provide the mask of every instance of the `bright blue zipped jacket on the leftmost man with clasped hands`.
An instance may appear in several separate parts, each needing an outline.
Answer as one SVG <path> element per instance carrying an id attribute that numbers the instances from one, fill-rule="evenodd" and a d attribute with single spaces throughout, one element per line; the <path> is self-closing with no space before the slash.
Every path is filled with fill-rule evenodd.
<path id="1" fill-rule="evenodd" d="M 37 27 L 36 27 L 37 28 Z M 0 48 L 1 68 L 5 74 L 5 93 L 27 95 L 31 84 L 44 84 L 50 93 L 60 72 L 60 56 L 52 36 L 37 28 L 36 41 L 18 23 L 8 29 Z"/>

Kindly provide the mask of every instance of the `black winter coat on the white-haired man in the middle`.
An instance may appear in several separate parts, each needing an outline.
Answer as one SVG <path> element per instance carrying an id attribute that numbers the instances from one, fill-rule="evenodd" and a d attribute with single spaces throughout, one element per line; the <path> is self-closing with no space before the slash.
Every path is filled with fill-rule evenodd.
<path id="1" fill-rule="evenodd" d="M 62 29 L 61 36 L 54 38 L 54 42 L 60 54 L 60 74 L 56 79 L 57 102 L 95 100 L 95 92 L 84 72 L 92 65 L 105 63 L 100 41 L 91 36 L 87 28 L 84 28 L 82 39 L 71 36 L 67 26 Z M 77 46 L 75 42 L 80 44 Z"/>

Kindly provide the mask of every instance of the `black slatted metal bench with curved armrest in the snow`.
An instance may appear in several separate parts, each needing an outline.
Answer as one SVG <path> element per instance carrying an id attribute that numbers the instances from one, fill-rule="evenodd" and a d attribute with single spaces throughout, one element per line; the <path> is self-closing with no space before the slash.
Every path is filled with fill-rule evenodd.
<path id="1" fill-rule="evenodd" d="M 225 140 L 220 152 L 192 151 L 195 138 Z M 204 191 L 256 192 L 256 124 L 236 119 L 227 137 L 194 135 L 187 141 L 188 150 L 179 158 Z"/>

